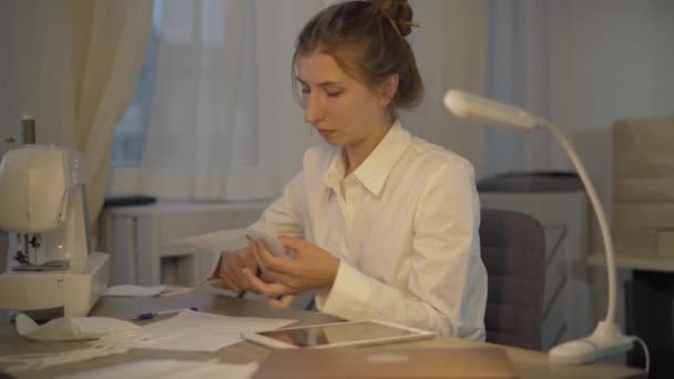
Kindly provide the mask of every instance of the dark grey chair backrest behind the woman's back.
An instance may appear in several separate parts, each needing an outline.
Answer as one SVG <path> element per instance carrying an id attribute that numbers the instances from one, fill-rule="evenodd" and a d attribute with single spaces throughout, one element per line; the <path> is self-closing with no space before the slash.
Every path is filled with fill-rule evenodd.
<path id="1" fill-rule="evenodd" d="M 482 209 L 480 248 L 489 276 L 487 341 L 541 349 L 543 227 L 519 212 Z"/>

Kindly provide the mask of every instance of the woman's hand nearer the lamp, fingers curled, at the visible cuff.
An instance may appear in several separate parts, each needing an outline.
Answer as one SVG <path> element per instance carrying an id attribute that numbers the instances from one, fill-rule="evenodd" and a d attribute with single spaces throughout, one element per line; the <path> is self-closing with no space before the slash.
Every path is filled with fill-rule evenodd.
<path id="1" fill-rule="evenodd" d="M 253 290 L 266 295 L 272 306 L 285 308 L 292 301 L 286 299 L 288 295 L 333 286 L 339 267 L 338 258 L 304 239 L 282 236 L 279 240 L 287 254 L 295 252 L 295 259 L 275 257 L 264 242 L 253 240 L 251 250 L 264 279 L 255 276 L 254 270 L 245 269 Z"/>

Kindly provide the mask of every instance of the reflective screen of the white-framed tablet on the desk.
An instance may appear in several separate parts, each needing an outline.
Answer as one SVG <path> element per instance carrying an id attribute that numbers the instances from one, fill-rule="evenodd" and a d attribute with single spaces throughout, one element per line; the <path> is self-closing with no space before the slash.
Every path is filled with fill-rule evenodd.
<path id="1" fill-rule="evenodd" d="M 364 320 L 263 331 L 259 332 L 259 335 L 296 347 L 316 347 L 321 345 L 377 340 L 381 338 L 417 336 L 418 332 Z"/>

